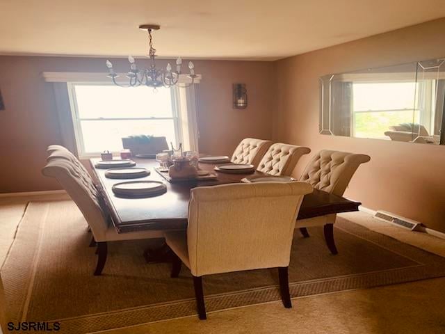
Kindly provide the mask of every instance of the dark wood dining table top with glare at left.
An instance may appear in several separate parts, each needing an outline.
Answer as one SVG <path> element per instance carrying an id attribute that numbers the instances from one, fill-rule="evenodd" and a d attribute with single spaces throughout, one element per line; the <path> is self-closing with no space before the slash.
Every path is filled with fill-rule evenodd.
<path id="1" fill-rule="evenodd" d="M 109 209 L 113 223 L 118 232 L 135 230 L 180 230 L 186 229 L 188 216 L 188 200 L 190 190 L 196 186 L 213 186 L 218 184 L 238 183 L 243 177 L 261 176 L 264 173 L 255 171 L 251 174 L 217 173 L 216 180 L 170 183 L 154 170 L 159 164 L 154 159 L 137 159 L 136 166 L 145 167 L 151 173 L 147 177 L 133 180 L 162 181 L 167 191 L 161 196 L 152 198 L 119 198 L 111 190 L 113 184 L 131 180 L 116 180 L 105 177 L 106 169 L 95 168 L 100 159 L 90 159 L 92 170 L 102 188 L 104 200 Z M 200 168 L 213 171 L 214 165 L 200 164 Z M 357 211 L 360 202 L 332 195 L 314 189 L 303 199 L 298 219 L 313 218 L 325 214 Z"/>

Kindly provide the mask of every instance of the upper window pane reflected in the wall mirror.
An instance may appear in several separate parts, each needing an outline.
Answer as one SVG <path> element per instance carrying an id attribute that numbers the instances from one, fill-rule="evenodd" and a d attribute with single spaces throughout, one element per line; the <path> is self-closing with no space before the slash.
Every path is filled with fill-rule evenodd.
<path id="1" fill-rule="evenodd" d="M 414 109 L 416 83 L 353 84 L 354 111 Z"/>

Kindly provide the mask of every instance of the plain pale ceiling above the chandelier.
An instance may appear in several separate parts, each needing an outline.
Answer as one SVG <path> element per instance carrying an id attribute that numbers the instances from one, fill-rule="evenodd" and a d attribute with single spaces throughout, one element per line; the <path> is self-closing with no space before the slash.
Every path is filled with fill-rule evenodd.
<path id="1" fill-rule="evenodd" d="M 275 60 L 445 17 L 444 0 L 0 0 L 0 53 Z"/>

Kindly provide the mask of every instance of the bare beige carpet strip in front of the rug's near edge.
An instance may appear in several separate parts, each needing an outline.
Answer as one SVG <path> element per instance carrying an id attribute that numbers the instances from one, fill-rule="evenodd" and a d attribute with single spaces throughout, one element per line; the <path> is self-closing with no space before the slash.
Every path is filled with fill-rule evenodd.
<path id="1" fill-rule="evenodd" d="M 445 278 L 297 297 L 102 334 L 444 334 Z"/>

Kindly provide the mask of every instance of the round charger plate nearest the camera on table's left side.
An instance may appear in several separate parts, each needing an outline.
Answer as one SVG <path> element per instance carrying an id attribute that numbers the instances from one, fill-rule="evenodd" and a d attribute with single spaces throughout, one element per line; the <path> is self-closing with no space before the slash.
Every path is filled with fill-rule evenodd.
<path id="1" fill-rule="evenodd" d="M 159 196 L 167 191 L 165 184 L 159 181 L 120 182 L 114 184 L 111 189 L 116 196 L 124 198 Z"/>

